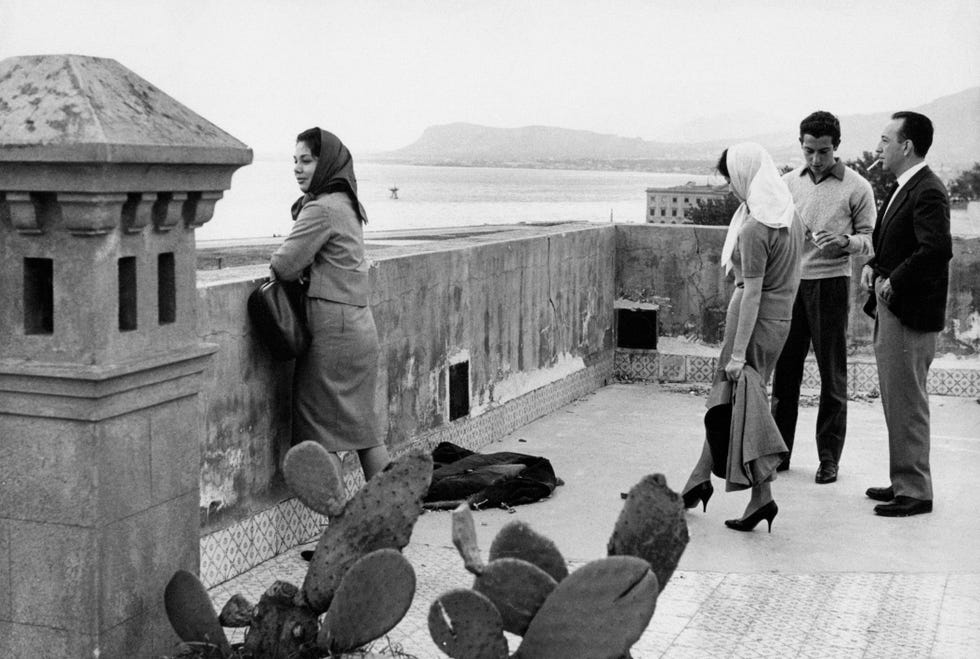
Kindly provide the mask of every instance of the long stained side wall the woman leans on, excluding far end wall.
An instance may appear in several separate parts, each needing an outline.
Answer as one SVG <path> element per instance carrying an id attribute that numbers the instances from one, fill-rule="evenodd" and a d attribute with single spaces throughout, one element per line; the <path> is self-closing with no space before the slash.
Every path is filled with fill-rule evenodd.
<path id="1" fill-rule="evenodd" d="M 469 362 L 474 416 L 612 350 L 615 233 L 512 230 L 371 253 L 382 344 L 377 412 L 389 449 L 449 422 L 451 364 Z M 237 270 L 199 273 L 198 281 L 201 338 L 220 346 L 202 395 L 205 529 L 280 498 L 276 465 L 290 445 L 290 366 L 255 343 L 245 313 L 266 269 Z"/>

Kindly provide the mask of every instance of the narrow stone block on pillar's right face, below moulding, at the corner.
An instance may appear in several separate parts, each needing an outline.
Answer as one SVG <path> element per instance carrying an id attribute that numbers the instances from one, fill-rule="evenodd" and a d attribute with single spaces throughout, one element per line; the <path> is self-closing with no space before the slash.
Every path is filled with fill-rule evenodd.
<path id="1" fill-rule="evenodd" d="M 96 428 L 99 522 L 106 524 L 150 506 L 150 423 L 145 413 L 107 419 Z"/>

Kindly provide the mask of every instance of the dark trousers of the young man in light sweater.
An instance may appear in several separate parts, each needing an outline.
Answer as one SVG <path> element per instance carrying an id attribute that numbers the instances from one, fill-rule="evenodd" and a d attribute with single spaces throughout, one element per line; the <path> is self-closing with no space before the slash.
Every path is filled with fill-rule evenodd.
<path id="1" fill-rule="evenodd" d="M 820 370 L 817 455 L 840 461 L 847 434 L 847 314 L 850 277 L 804 279 L 793 303 L 793 322 L 772 379 L 772 416 L 793 453 L 800 385 L 810 344 Z M 789 457 L 787 457 L 787 461 Z"/>

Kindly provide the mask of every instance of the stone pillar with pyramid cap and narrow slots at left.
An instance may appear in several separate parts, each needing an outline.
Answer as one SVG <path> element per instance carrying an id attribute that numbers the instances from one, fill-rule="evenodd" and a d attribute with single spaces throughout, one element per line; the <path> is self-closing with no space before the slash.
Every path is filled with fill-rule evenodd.
<path id="1" fill-rule="evenodd" d="M 0 656 L 173 654 L 215 350 L 194 229 L 251 159 L 114 60 L 0 61 Z"/>

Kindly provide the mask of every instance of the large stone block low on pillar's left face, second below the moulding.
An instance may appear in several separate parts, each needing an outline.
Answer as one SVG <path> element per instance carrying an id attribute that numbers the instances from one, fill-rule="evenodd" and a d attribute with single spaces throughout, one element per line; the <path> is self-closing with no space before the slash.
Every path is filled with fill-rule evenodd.
<path id="1" fill-rule="evenodd" d="M 9 529 L 11 620 L 93 633 L 98 614 L 98 532 L 17 520 L 9 522 Z"/>

